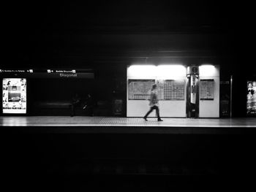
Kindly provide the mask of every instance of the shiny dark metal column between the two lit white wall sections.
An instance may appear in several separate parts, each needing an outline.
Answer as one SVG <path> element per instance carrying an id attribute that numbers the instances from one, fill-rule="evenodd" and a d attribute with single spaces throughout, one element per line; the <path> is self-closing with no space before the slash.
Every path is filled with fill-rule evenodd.
<path id="1" fill-rule="evenodd" d="M 187 118 L 199 116 L 199 69 L 198 66 L 187 67 Z"/>

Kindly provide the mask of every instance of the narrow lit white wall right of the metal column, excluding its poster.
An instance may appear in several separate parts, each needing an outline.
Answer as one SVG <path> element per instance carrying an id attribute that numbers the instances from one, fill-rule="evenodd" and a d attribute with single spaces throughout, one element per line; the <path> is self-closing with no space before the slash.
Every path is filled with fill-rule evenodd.
<path id="1" fill-rule="evenodd" d="M 200 80 L 214 80 L 214 100 L 199 98 L 199 118 L 219 118 L 219 66 L 199 66 L 199 77 Z"/>

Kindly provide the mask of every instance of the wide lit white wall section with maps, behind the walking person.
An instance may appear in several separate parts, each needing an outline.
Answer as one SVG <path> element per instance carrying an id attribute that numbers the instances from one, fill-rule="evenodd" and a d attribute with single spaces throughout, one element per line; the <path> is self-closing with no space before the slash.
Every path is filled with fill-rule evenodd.
<path id="1" fill-rule="evenodd" d="M 185 66 L 132 65 L 127 69 L 127 117 L 143 117 L 149 109 L 151 85 L 157 83 L 161 117 L 186 118 Z M 149 117 L 154 117 L 152 112 Z"/>

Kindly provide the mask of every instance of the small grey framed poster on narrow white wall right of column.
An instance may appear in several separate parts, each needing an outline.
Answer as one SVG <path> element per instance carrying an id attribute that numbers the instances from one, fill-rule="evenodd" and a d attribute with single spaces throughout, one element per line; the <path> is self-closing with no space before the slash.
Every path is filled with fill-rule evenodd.
<path id="1" fill-rule="evenodd" d="M 214 80 L 200 80 L 200 100 L 214 100 Z"/>

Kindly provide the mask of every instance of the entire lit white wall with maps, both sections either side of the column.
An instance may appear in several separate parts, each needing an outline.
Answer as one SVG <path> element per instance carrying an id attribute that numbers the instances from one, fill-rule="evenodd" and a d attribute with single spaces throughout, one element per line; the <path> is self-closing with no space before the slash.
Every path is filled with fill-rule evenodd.
<path id="1" fill-rule="evenodd" d="M 197 117 L 219 118 L 219 66 L 197 66 L 195 87 Z M 140 65 L 127 67 L 127 117 L 143 117 L 149 109 L 151 86 L 157 84 L 160 116 L 190 118 L 187 115 L 189 77 L 181 64 Z M 149 117 L 155 117 L 152 112 Z"/>

